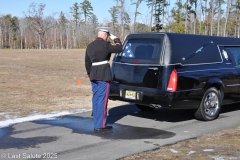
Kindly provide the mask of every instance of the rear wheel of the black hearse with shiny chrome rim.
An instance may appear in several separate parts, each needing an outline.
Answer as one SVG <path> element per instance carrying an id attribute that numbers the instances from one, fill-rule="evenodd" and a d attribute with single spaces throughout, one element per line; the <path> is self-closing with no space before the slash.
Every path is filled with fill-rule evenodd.
<path id="1" fill-rule="evenodd" d="M 219 91 L 211 87 L 203 95 L 199 108 L 195 111 L 194 116 L 198 120 L 211 121 L 219 116 L 221 108 L 221 99 Z"/>

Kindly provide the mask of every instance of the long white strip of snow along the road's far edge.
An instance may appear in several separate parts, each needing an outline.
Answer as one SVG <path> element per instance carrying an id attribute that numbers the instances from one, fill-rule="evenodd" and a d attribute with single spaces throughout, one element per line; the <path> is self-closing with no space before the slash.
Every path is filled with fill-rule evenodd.
<path id="1" fill-rule="evenodd" d="M 23 122 L 29 122 L 29 121 L 35 121 L 35 120 L 40 120 L 40 119 L 52 119 L 52 118 L 57 118 L 60 116 L 65 116 L 65 115 L 71 115 L 71 114 L 77 114 L 77 113 L 83 113 L 91 111 L 90 109 L 78 109 L 74 111 L 61 111 L 61 112 L 52 112 L 49 114 L 35 114 L 35 115 L 30 115 L 28 117 L 14 117 L 12 119 L 8 119 L 5 121 L 0 121 L 0 128 L 8 127 L 17 123 L 23 123 Z"/>

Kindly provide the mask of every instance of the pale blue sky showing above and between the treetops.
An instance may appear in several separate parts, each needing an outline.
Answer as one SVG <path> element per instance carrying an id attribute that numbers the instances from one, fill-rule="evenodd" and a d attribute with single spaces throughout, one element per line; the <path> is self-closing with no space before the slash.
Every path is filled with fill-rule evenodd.
<path id="1" fill-rule="evenodd" d="M 93 13 L 97 16 L 99 22 L 111 20 L 108 10 L 116 5 L 114 0 L 89 1 L 93 7 Z M 70 7 L 72 7 L 75 2 L 79 4 L 83 2 L 83 0 L 1 0 L 0 15 L 11 14 L 12 16 L 24 17 L 24 12 L 27 13 L 30 4 L 33 2 L 36 4 L 46 4 L 44 16 L 55 15 L 55 17 L 59 17 L 60 12 L 62 11 L 67 17 L 70 15 Z M 126 0 L 126 10 L 129 12 L 131 19 L 133 19 L 135 8 L 131 5 L 131 0 Z M 150 10 L 146 6 L 146 3 L 142 2 L 139 11 L 142 15 L 138 16 L 138 18 L 143 20 L 147 18 L 146 16 L 149 14 Z"/>

